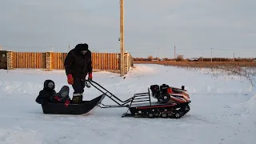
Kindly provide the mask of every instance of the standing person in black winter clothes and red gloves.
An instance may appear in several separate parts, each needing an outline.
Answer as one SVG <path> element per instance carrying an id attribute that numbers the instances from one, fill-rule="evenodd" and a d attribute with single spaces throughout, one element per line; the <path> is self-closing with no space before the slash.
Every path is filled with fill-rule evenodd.
<path id="1" fill-rule="evenodd" d="M 88 45 L 80 43 L 73 50 L 70 50 L 66 55 L 64 66 L 67 81 L 74 89 L 72 102 L 80 103 L 82 102 L 87 74 L 89 75 L 88 79 L 92 80 L 92 60 Z"/>

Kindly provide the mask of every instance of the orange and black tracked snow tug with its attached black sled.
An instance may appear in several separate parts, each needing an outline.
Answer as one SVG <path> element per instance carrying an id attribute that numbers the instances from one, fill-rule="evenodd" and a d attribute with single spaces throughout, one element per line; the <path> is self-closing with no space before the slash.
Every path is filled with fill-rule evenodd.
<path id="1" fill-rule="evenodd" d="M 117 108 L 127 107 L 126 113 L 122 117 L 136 118 L 182 118 L 190 111 L 190 96 L 185 87 L 175 88 L 166 84 L 151 85 L 147 92 L 134 94 L 133 97 L 122 101 L 114 94 L 110 93 L 103 86 L 94 81 L 86 81 L 86 86 L 94 86 L 102 94 L 91 101 L 83 101 L 79 104 L 70 103 L 65 107 L 59 103 L 42 104 L 44 114 L 88 114 L 96 107 Z M 117 105 L 106 106 L 102 104 L 103 98 L 108 97 Z M 156 102 L 153 102 L 153 99 Z M 130 110 L 130 114 L 128 111 Z"/>

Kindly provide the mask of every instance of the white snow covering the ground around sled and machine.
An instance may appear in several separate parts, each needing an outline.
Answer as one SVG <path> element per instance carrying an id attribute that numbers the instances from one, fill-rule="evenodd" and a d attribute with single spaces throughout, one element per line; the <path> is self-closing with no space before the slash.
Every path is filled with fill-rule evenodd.
<path id="1" fill-rule="evenodd" d="M 42 114 L 34 100 L 43 82 L 66 85 L 63 70 L 0 70 L 1 144 L 253 144 L 256 141 L 256 90 L 245 78 L 218 78 L 207 70 L 188 71 L 171 66 L 135 65 L 126 78 L 94 73 L 94 81 L 125 100 L 147 92 L 153 84 L 186 86 L 191 110 L 180 119 L 121 118 L 126 108 L 97 108 L 87 116 Z M 256 81 L 256 78 L 254 78 Z M 71 88 L 71 86 L 70 86 Z M 73 90 L 70 91 L 73 93 Z M 90 100 L 100 94 L 86 89 Z M 109 98 L 103 103 L 114 104 Z"/>

